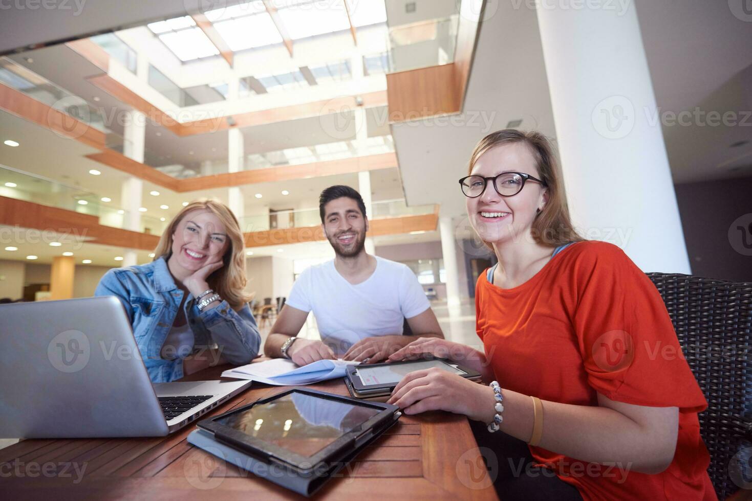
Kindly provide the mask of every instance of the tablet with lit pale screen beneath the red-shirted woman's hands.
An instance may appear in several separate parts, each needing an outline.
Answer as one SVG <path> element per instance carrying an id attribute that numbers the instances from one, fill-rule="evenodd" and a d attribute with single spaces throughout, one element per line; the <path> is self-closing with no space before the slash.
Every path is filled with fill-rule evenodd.
<path id="1" fill-rule="evenodd" d="M 368 394 L 391 392 L 408 373 L 433 367 L 446 370 L 463 378 L 478 379 L 481 377 L 481 373 L 443 358 L 351 365 L 347 367 L 346 377 L 358 396 L 366 397 Z"/>

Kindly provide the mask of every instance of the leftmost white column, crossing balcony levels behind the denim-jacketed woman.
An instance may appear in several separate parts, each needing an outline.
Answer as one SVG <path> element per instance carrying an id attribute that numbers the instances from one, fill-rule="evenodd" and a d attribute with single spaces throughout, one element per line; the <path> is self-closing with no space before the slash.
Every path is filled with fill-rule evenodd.
<path id="1" fill-rule="evenodd" d="M 123 155 L 132 160 L 144 163 L 144 148 L 146 145 L 146 115 L 140 111 L 128 112 L 123 137 Z M 123 228 L 131 231 L 141 231 L 141 196 L 144 192 L 144 181 L 138 177 L 129 177 L 120 187 L 120 205 L 125 214 L 123 215 Z M 121 263 L 125 266 L 134 266 L 137 263 L 135 250 L 126 250 Z"/>

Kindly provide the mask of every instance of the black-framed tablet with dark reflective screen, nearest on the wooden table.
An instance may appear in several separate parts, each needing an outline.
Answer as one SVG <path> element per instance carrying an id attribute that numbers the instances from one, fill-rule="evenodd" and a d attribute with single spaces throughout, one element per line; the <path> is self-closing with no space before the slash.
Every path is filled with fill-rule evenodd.
<path id="1" fill-rule="evenodd" d="M 399 415 L 399 408 L 387 403 L 293 388 L 198 426 L 253 457 L 320 475 L 387 430 Z"/>

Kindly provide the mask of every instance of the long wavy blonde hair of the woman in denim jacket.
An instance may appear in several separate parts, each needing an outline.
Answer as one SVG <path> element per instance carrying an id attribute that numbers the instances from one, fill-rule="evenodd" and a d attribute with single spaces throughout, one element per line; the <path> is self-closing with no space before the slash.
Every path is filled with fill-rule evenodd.
<path id="1" fill-rule="evenodd" d="M 167 225 L 164 233 L 162 233 L 162 237 L 159 238 L 159 243 L 156 249 L 154 249 L 154 261 L 162 257 L 165 258 L 165 261 L 170 258 L 172 254 L 172 235 L 175 232 L 175 228 L 177 228 L 178 223 L 180 223 L 187 213 L 196 209 L 208 210 L 214 216 L 217 216 L 225 226 L 230 245 L 227 247 L 225 255 L 222 258 L 224 266 L 211 273 L 207 278 L 207 282 L 209 287 L 214 289 L 217 294 L 220 294 L 223 300 L 226 300 L 232 306 L 232 309 L 238 311 L 245 303 L 253 299 L 253 294 L 248 294 L 245 291 L 247 278 L 245 276 L 243 233 L 241 232 L 240 225 L 238 225 L 238 219 L 235 219 L 232 211 L 216 198 L 199 198 L 186 205 L 186 207 L 183 207 L 183 210 L 177 213 L 177 216 Z"/>

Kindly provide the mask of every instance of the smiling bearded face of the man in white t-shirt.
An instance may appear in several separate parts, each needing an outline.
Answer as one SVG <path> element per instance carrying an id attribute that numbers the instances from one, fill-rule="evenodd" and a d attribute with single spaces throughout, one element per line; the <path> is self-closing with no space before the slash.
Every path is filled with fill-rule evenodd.
<path id="1" fill-rule="evenodd" d="M 352 198 L 335 198 L 327 203 L 322 227 L 337 255 L 352 258 L 363 250 L 368 219 L 363 217 Z"/>

